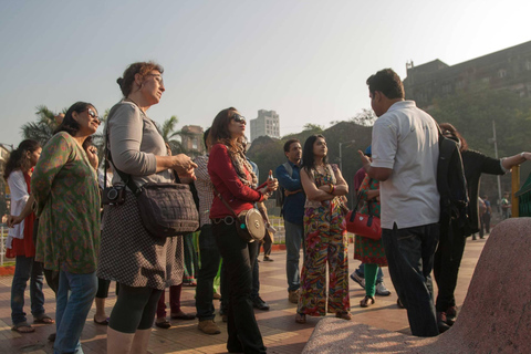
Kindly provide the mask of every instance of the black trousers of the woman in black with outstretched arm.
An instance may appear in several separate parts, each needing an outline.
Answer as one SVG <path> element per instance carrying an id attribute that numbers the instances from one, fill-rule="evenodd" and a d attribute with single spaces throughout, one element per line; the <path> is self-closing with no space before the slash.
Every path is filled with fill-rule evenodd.
<path id="1" fill-rule="evenodd" d="M 439 289 L 435 303 L 438 312 L 446 312 L 448 308 L 456 305 L 454 292 L 466 240 L 467 238 L 456 228 L 455 222 L 441 226 L 439 247 L 435 252 L 434 261 L 434 275 Z"/>

